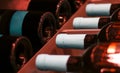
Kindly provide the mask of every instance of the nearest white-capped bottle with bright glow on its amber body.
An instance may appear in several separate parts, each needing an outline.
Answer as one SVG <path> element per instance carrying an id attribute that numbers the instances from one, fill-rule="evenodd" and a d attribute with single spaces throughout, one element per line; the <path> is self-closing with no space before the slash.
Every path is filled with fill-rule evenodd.
<path id="1" fill-rule="evenodd" d="M 119 73 L 119 46 L 119 42 L 97 43 L 82 56 L 39 54 L 35 65 L 44 71 Z"/>

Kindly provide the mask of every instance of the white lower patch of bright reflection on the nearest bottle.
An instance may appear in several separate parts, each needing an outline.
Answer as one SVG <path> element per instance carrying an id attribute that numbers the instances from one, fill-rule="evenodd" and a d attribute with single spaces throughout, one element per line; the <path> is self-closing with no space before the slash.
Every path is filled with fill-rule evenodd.
<path id="1" fill-rule="evenodd" d="M 120 67 L 120 53 L 108 54 L 107 61 Z"/>

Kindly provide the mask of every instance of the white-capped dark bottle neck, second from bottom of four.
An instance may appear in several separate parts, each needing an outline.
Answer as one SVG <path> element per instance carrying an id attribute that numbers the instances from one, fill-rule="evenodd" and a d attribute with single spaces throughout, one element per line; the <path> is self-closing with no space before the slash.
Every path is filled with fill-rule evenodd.
<path id="1" fill-rule="evenodd" d="M 97 34 L 65 34 L 56 36 L 56 46 L 59 48 L 85 49 L 97 42 Z"/>

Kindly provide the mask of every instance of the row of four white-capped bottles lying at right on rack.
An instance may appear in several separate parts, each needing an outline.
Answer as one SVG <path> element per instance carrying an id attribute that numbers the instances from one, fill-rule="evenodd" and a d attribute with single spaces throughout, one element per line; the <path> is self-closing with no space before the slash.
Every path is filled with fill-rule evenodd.
<path id="1" fill-rule="evenodd" d="M 60 33 L 56 46 L 61 49 L 84 49 L 81 56 L 39 54 L 36 67 L 39 70 L 78 73 L 119 73 L 120 22 L 119 5 L 112 3 L 88 4 L 88 17 L 76 17 L 73 27 L 100 29 L 98 34 Z"/>

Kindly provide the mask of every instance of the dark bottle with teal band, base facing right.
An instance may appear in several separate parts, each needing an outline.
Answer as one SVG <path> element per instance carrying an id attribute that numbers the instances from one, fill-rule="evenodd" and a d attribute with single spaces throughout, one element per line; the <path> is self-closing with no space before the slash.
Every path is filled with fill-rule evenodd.
<path id="1" fill-rule="evenodd" d="M 7 11 L 1 18 L 0 32 L 28 37 L 36 52 L 56 33 L 56 20 L 51 12 Z"/>

